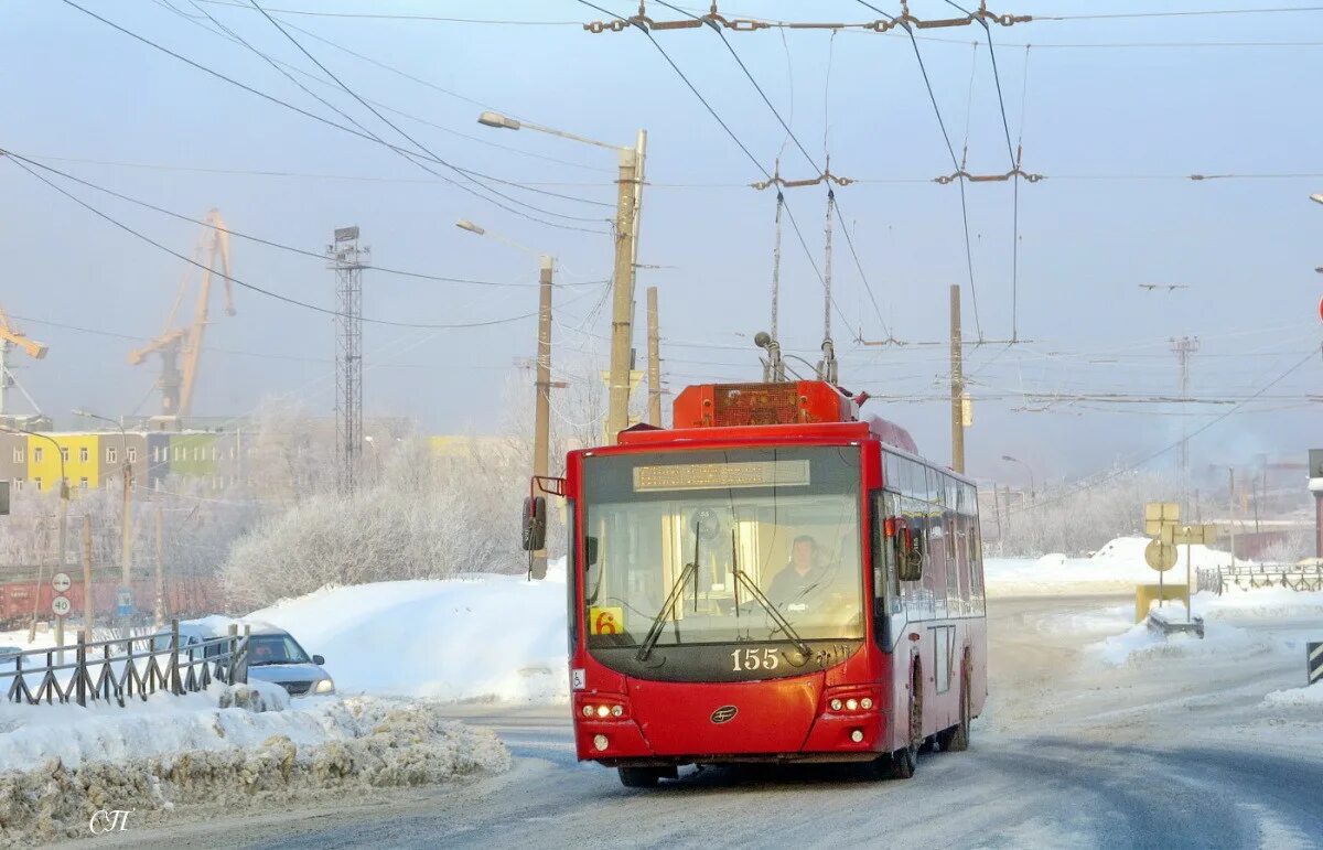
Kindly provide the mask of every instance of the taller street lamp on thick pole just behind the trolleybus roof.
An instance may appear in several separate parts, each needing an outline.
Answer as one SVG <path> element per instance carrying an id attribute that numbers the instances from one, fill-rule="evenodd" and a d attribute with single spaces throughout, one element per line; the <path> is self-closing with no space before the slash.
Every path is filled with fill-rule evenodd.
<path id="1" fill-rule="evenodd" d="M 639 130 L 632 147 L 607 144 L 500 113 L 483 113 L 478 123 L 501 130 L 536 130 L 572 142 L 614 150 L 619 176 L 615 199 L 615 266 L 611 274 L 611 376 L 607 385 L 606 433 L 611 442 L 630 424 L 630 371 L 634 348 L 634 282 L 639 260 L 639 221 L 643 212 L 643 162 L 648 134 Z M 467 228 L 466 228 L 467 229 Z"/>

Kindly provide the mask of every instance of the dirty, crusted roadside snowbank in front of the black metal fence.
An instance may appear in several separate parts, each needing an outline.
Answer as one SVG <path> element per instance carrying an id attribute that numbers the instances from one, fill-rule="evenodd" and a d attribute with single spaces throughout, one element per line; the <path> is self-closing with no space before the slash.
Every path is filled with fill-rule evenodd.
<path id="1" fill-rule="evenodd" d="M 83 837 L 91 813 L 106 808 L 134 809 L 143 822 L 176 805 L 284 804 L 511 764 L 492 732 L 446 720 L 434 703 L 353 698 L 253 714 L 187 706 L 194 696 L 208 698 L 163 696 L 163 704 L 148 700 L 146 712 L 8 707 L 0 720 L 4 764 L 41 767 L 0 772 L 0 843 Z"/>

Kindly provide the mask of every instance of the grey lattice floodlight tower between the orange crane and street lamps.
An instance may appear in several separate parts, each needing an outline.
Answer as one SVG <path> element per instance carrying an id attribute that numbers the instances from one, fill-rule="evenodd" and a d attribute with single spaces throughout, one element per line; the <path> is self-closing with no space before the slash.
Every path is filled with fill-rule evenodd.
<path id="1" fill-rule="evenodd" d="M 357 225 L 337 228 L 335 241 L 327 246 L 340 307 L 335 319 L 335 440 L 337 483 L 345 495 L 359 486 L 363 458 L 363 270 L 370 256 L 370 248 L 359 246 Z"/>

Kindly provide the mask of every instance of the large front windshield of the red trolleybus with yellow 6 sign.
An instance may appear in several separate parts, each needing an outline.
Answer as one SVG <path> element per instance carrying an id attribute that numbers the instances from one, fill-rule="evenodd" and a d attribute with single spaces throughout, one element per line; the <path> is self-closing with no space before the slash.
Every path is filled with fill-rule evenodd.
<path id="1" fill-rule="evenodd" d="M 861 638 L 859 465 L 857 446 L 585 458 L 589 649 Z"/>

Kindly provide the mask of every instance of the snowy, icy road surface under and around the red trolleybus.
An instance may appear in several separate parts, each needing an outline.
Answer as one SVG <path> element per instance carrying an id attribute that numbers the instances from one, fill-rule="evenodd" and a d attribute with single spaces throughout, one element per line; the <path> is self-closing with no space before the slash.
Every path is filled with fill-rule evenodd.
<path id="1" fill-rule="evenodd" d="M 460 707 L 456 716 L 499 731 L 511 772 L 135 830 L 119 846 L 1323 846 L 1318 724 L 1265 724 L 1259 708 L 1298 671 L 1253 650 L 1176 669 L 1193 675 L 1089 663 L 1081 647 L 1117 630 L 1097 613 L 1115 620 L 1123 604 L 990 604 L 992 696 L 971 748 L 922 755 L 908 781 L 830 767 L 709 769 L 630 790 L 614 771 L 576 763 L 564 708 Z"/>

